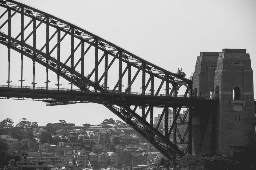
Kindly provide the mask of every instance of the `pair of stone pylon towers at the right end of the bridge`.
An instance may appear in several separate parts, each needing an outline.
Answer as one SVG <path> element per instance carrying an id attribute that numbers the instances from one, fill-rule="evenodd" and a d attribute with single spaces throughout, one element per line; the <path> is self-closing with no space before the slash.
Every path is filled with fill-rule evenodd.
<path id="1" fill-rule="evenodd" d="M 232 158 L 253 146 L 253 71 L 246 49 L 201 52 L 193 80 L 194 96 L 219 99 L 217 113 L 199 111 L 193 116 L 196 156 L 222 154 Z"/>

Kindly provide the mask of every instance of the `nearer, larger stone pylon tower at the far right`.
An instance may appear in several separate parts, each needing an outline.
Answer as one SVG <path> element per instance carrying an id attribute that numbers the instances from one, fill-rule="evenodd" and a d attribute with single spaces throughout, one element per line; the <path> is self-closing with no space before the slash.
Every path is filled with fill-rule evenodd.
<path id="1" fill-rule="evenodd" d="M 255 140 L 253 72 L 246 49 L 223 49 L 214 77 L 219 97 L 215 153 L 236 157 Z"/>

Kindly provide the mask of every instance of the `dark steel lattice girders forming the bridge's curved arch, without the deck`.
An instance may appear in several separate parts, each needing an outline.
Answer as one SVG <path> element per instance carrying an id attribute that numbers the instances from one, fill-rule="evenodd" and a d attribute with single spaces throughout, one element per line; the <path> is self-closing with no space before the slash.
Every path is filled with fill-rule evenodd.
<path id="1" fill-rule="evenodd" d="M 8 12 L 8 19 L 0 26 L 3 27 L 6 23 L 8 23 L 8 26 L 10 26 L 10 20 L 12 18 L 13 15 L 16 15 L 17 13 L 21 14 L 21 33 L 18 34 L 18 36 L 11 37 L 10 34 L 10 28 L 8 28 L 8 35 L 1 33 L 0 32 L 0 43 L 7 46 L 9 51 L 10 49 L 13 49 L 19 53 L 21 53 L 21 55 L 25 55 L 28 58 L 33 60 L 33 66 L 35 64 L 35 62 L 43 65 L 44 67 L 47 68 L 47 75 L 48 75 L 48 69 L 50 69 L 51 71 L 55 72 L 58 76 L 58 87 L 59 87 L 59 76 L 63 77 L 64 79 L 66 79 L 67 81 L 69 81 L 71 84 L 76 85 L 77 87 L 79 87 L 81 89 L 81 91 L 89 91 L 89 89 L 87 88 L 88 86 L 92 86 L 95 91 L 100 91 L 101 93 L 109 93 L 109 91 L 107 91 L 107 71 L 108 69 L 111 67 L 113 61 L 115 59 L 119 60 L 119 71 L 118 71 L 118 81 L 116 83 L 116 86 L 114 87 L 114 91 L 115 89 L 118 87 L 118 91 L 121 92 L 122 91 L 122 78 L 123 75 L 126 73 L 126 71 L 128 72 L 128 87 L 125 91 L 126 93 L 130 93 L 131 90 L 131 85 L 133 84 L 134 80 L 136 79 L 138 73 L 140 71 L 142 71 L 142 94 L 145 94 L 145 90 L 147 88 L 147 86 L 149 85 L 149 83 L 151 82 L 151 95 L 158 95 L 160 89 L 162 88 L 162 85 L 164 84 L 164 82 L 166 82 L 166 96 L 177 96 L 178 94 L 178 90 L 179 88 L 184 85 L 186 86 L 186 92 L 184 93 L 184 97 L 187 96 L 188 94 L 190 96 L 192 96 L 192 81 L 186 79 L 184 76 L 180 75 L 180 74 L 175 74 L 172 73 L 168 70 L 165 70 L 155 64 L 152 64 L 148 61 L 146 61 L 145 59 L 142 59 L 132 53 L 130 53 L 129 51 L 118 47 L 117 45 L 108 42 L 104 39 L 102 39 L 99 36 L 96 36 L 76 25 L 73 25 L 67 21 L 64 21 L 62 19 L 59 19 L 53 15 L 47 14 L 43 11 L 37 10 L 35 8 L 29 7 L 25 4 L 16 2 L 16 1 L 12 1 L 12 0 L 1 0 L 0 1 L 0 6 L 3 8 L 6 8 L 7 10 L 0 16 L 0 19 L 2 18 L 3 15 L 5 15 L 6 12 Z M 10 11 L 14 11 L 14 13 L 11 15 Z M 24 16 L 27 16 L 29 18 L 31 18 L 32 20 L 24 27 Z M 36 25 L 36 21 L 39 21 L 39 24 Z M 29 25 L 33 22 L 33 31 L 24 39 L 24 30 L 26 28 L 29 27 Z M 36 48 L 36 29 L 38 27 L 40 27 L 40 25 L 44 23 L 46 24 L 46 43 L 45 45 L 39 50 Z M 11 26 L 10 26 L 11 27 Z M 53 35 L 50 37 L 49 35 L 49 27 L 51 28 L 55 28 L 56 31 L 53 33 Z M 60 32 L 63 32 L 64 35 L 62 37 L 60 37 Z M 57 43 L 54 45 L 54 47 L 50 50 L 49 49 L 49 42 L 50 40 L 54 37 L 54 35 L 57 34 Z M 33 46 L 29 45 L 26 43 L 26 40 L 29 39 L 29 37 L 33 35 Z M 60 44 L 61 41 L 64 39 L 64 37 L 66 35 L 70 35 L 71 36 L 71 42 L 70 42 L 70 48 L 71 48 L 71 54 L 70 56 L 67 58 L 67 60 L 62 63 L 60 61 Z M 19 36 L 21 36 L 21 40 L 18 40 L 17 38 L 19 38 Z M 78 39 L 80 41 L 80 43 L 75 47 L 74 46 L 74 39 Z M 89 44 L 89 47 L 84 51 L 83 48 L 83 44 L 87 43 Z M 74 52 L 77 50 L 77 48 L 81 45 L 81 49 L 82 49 L 82 54 L 81 54 L 81 58 L 77 61 L 76 64 L 74 64 Z M 94 47 L 95 48 L 95 67 L 92 70 L 91 74 L 89 74 L 88 76 L 84 76 L 84 68 L 81 66 L 81 73 L 79 73 L 78 71 L 75 70 L 76 66 L 78 65 L 79 62 L 84 62 L 84 56 L 87 53 L 87 51 L 90 49 L 90 47 Z M 46 48 L 46 52 L 43 52 L 42 50 Z M 51 53 L 57 48 L 57 59 L 51 56 Z M 100 58 L 100 60 L 98 60 L 98 49 L 104 52 L 104 55 Z M 9 58 L 10 58 L 10 52 L 8 53 Z M 111 61 L 111 63 L 107 63 L 106 58 L 108 57 L 108 55 L 113 56 L 113 60 Z M 98 80 L 98 65 L 99 63 L 103 60 L 103 58 L 105 57 L 105 72 L 103 73 L 103 75 L 100 77 L 100 79 Z M 67 62 L 71 61 L 71 65 L 67 66 Z M 122 63 L 126 63 L 127 67 L 125 68 L 125 70 L 122 72 Z M 10 63 L 9 63 L 10 64 Z M 131 79 L 131 66 L 137 69 L 137 72 L 135 74 L 135 76 L 133 77 L 133 79 Z M 9 67 L 10 68 L 10 67 Z M 33 72 L 35 70 L 35 66 L 33 67 Z M 22 71 L 21 71 L 22 72 Z M 95 74 L 94 77 L 94 81 L 90 80 L 90 77 L 92 76 L 92 74 Z M 145 81 L 145 73 L 150 74 L 150 78 L 149 80 Z M 105 86 L 104 88 L 101 87 L 99 85 L 100 81 L 103 79 L 104 77 L 104 83 Z M 156 91 L 156 94 L 153 93 L 154 90 L 154 78 L 159 78 L 161 79 L 161 84 L 158 87 L 158 90 Z M 22 86 L 22 81 L 23 79 L 21 79 L 21 86 Z M 8 86 L 9 86 L 9 78 L 8 78 Z M 33 81 L 33 87 L 35 88 L 35 82 Z M 48 78 L 46 80 L 46 87 L 48 85 Z M 172 85 L 171 91 L 169 93 L 169 83 Z M 72 88 L 72 85 L 71 85 Z M 169 106 L 168 104 L 159 101 L 157 99 L 157 101 L 162 104 L 162 106 Z M 142 105 L 143 108 L 143 112 L 142 112 L 142 116 L 139 116 L 138 114 L 136 114 L 135 110 L 131 110 L 129 105 L 123 105 L 123 104 L 118 104 L 116 103 L 112 103 L 110 104 L 106 104 L 109 103 L 108 101 L 105 101 L 102 103 L 102 101 L 94 101 L 95 103 L 101 103 L 104 104 L 104 106 L 106 106 L 108 109 L 110 109 L 113 113 L 115 113 L 116 115 L 118 115 L 122 120 L 126 121 L 130 126 L 132 126 L 135 130 L 137 130 L 138 132 L 140 132 L 147 140 L 149 140 L 150 143 L 152 143 L 157 149 L 159 149 L 160 152 L 162 152 L 167 158 L 172 159 L 174 154 L 178 154 L 179 156 L 184 155 L 183 152 L 181 152 L 177 146 L 175 144 L 172 144 L 169 140 L 169 136 L 170 133 L 172 131 L 172 129 L 176 129 L 173 128 L 173 126 L 175 126 L 175 124 L 173 123 L 173 126 L 171 128 L 170 131 L 168 131 L 168 129 L 166 129 L 166 135 L 162 135 L 157 128 L 154 128 L 152 126 L 153 121 L 150 122 L 150 124 L 146 121 L 146 117 L 150 111 L 150 109 L 148 109 L 147 113 L 145 114 L 145 105 Z M 114 107 L 114 105 L 116 105 L 117 107 L 120 108 L 120 110 L 117 107 Z M 175 105 L 175 104 L 174 104 Z M 138 104 L 137 104 L 138 106 Z M 188 107 L 192 107 L 193 104 L 188 104 Z M 153 105 L 150 105 L 151 108 L 153 108 Z M 153 113 L 153 112 L 152 112 Z M 162 113 L 162 115 L 164 114 L 164 112 Z M 168 112 L 165 113 L 168 116 Z M 123 115 L 123 116 L 121 116 Z M 153 114 L 150 114 L 151 116 L 151 120 L 153 119 Z M 179 113 L 176 114 L 177 117 L 180 118 Z M 132 121 L 133 119 L 133 121 Z M 177 118 L 176 118 L 177 119 Z M 184 122 L 184 121 L 183 121 Z M 142 124 L 142 126 L 139 126 L 138 124 Z M 175 132 L 176 133 L 176 132 Z M 179 132 L 178 132 L 179 133 Z M 190 132 L 188 132 L 190 133 Z M 191 134 L 191 133 L 190 133 Z M 179 135 L 180 137 L 180 135 Z M 184 137 L 183 137 L 184 138 Z M 176 140 L 176 139 L 175 139 Z M 159 144 L 158 142 L 161 141 L 160 143 L 164 143 L 164 145 Z M 191 144 L 191 137 L 189 137 L 189 143 Z M 191 152 L 191 145 L 190 145 L 190 152 Z"/>

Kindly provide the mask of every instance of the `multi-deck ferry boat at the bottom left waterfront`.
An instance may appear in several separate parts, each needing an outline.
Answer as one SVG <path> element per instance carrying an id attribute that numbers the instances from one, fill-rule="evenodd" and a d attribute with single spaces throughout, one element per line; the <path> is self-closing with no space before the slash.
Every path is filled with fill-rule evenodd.
<path id="1" fill-rule="evenodd" d="M 53 165 L 44 165 L 41 161 L 30 161 L 24 154 L 11 155 L 9 164 L 4 170 L 51 170 Z"/>

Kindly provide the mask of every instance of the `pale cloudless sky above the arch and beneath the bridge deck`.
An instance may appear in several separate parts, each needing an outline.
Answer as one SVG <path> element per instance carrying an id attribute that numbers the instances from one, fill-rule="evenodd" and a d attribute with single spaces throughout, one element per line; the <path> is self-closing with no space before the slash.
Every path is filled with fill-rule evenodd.
<path id="1" fill-rule="evenodd" d="M 190 76 L 201 51 L 221 52 L 223 48 L 247 49 L 252 70 L 256 70 L 254 0 L 22 2 L 74 23 L 172 72 L 182 67 Z M 1 8 L 0 15 L 3 12 Z M 0 45 L 0 51 L 0 55 L 7 54 L 3 45 Z M 20 55 L 18 59 L 20 61 Z M 7 59 L 1 60 L 1 67 L 3 62 L 8 63 Z M 0 79 L 0 84 L 7 84 L 6 80 Z M 254 85 L 255 81 L 254 73 Z M 30 82 L 24 84 L 29 85 Z M 49 86 L 54 87 L 54 83 Z M 0 108 L 0 121 L 11 118 L 15 124 L 21 118 L 37 121 L 40 126 L 60 119 L 78 126 L 97 124 L 111 117 L 118 119 L 98 104 L 46 106 L 43 102 L 2 99 Z"/>

